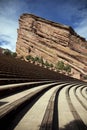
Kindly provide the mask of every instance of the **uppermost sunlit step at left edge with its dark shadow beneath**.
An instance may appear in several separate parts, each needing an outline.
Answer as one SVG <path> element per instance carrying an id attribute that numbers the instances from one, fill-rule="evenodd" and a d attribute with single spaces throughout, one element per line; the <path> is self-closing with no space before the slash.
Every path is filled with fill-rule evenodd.
<path id="1" fill-rule="evenodd" d="M 41 85 L 41 84 L 45 84 L 45 83 L 49 83 L 49 82 L 53 82 L 53 81 L 37 81 L 37 82 L 26 82 L 26 83 L 17 83 L 17 84 L 9 84 L 9 85 L 1 85 L 0 86 L 0 98 L 18 93 L 20 91 Z"/>

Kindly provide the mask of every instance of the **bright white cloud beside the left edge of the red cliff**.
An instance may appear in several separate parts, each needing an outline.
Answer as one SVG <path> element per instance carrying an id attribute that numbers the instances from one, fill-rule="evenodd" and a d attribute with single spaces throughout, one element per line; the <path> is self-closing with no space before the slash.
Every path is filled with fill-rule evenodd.
<path id="1" fill-rule="evenodd" d="M 15 51 L 16 40 L 17 40 L 17 22 L 11 19 L 7 19 L 2 16 L 0 18 L 0 39 L 8 41 L 9 44 L 3 45 L 3 48 L 8 48 L 12 51 Z"/>

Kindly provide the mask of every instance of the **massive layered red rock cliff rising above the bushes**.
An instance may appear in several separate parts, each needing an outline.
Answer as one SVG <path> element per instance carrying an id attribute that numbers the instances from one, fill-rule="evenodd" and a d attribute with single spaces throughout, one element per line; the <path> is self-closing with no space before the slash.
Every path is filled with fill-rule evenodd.
<path id="1" fill-rule="evenodd" d="M 39 56 L 53 64 L 63 60 L 87 75 L 87 41 L 69 26 L 23 14 L 16 51 L 19 56 Z"/>

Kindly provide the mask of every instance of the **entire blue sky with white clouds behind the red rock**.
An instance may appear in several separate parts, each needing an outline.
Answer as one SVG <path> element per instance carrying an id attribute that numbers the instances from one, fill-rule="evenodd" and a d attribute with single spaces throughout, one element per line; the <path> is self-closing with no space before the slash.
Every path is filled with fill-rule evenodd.
<path id="1" fill-rule="evenodd" d="M 0 46 L 15 51 L 18 19 L 32 13 L 72 26 L 87 39 L 87 0 L 0 0 Z"/>

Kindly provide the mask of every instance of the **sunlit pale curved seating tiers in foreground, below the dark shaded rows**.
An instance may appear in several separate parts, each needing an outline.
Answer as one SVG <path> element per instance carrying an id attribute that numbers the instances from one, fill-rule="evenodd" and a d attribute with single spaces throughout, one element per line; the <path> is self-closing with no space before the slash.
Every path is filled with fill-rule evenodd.
<path id="1" fill-rule="evenodd" d="M 2 85 L 0 129 L 87 130 L 87 84 L 51 80 Z"/>

